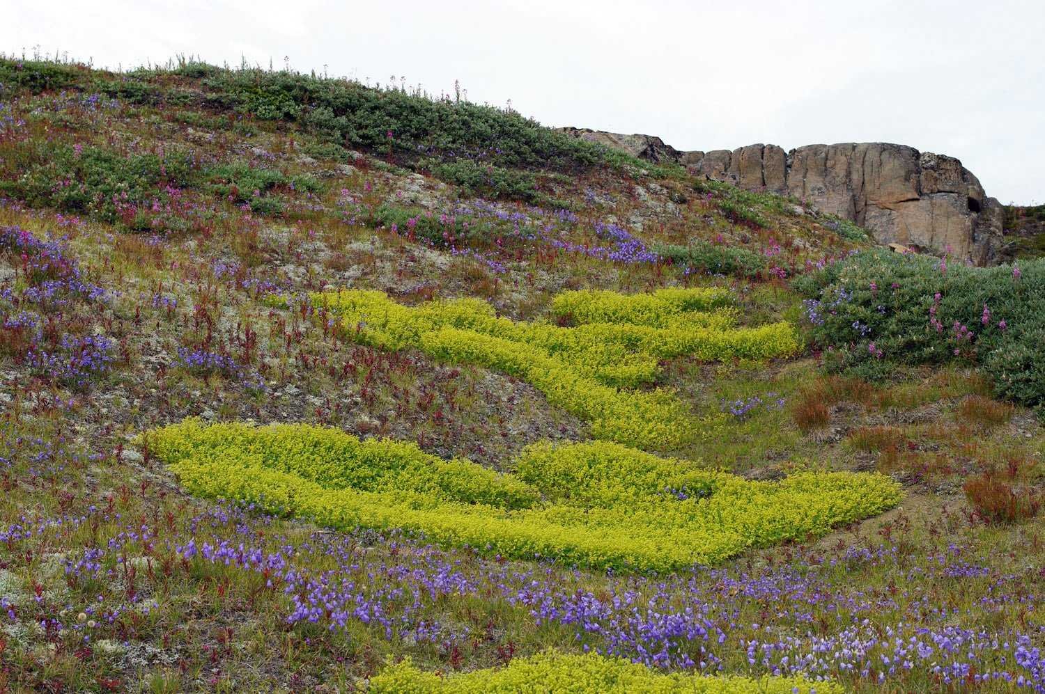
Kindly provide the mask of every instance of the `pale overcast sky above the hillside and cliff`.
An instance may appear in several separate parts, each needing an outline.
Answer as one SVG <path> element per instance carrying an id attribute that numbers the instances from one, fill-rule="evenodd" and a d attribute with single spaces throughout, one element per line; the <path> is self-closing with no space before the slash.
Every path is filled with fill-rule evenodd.
<path id="1" fill-rule="evenodd" d="M 10 7 L 10 4 L 14 7 Z M 677 149 L 896 142 L 1045 202 L 1045 3 L 5 0 L 0 52 L 421 86 Z"/>

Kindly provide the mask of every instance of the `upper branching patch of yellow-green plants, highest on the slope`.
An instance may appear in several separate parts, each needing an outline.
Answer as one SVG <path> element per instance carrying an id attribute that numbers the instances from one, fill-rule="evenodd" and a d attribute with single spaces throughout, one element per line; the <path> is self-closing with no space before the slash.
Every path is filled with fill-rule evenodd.
<path id="1" fill-rule="evenodd" d="M 341 316 L 346 334 L 358 342 L 419 349 L 447 362 L 511 374 L 590 422 L 596 438 L 645 449 L 699 440 L 718 423 L 694 416 L 672 392 L 630 389 L 653 381 L 660 360 L 768 359 L 798 349 L 787 322 L 735 327 L 733 313 L 721 309 L 728 292 L 719 289 L 567 292 L 554 310 L 582 322 L 572 328 L 497 317 L 474 298 L 408 307 L 379 291 L 343 290 L 316 293 L 311 301 Z"/>

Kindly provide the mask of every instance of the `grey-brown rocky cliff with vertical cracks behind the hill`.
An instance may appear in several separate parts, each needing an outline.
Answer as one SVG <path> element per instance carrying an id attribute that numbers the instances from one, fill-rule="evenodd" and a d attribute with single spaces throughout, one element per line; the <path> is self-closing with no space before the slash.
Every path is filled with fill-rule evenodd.
<path id="1" fill-rule="evenodd" d="M 999 259 L 1002 207 L 953 157 L 882 142 L 678 151 L 652 136 L 563 129 L 643 159 L 679 162 L 709 178 L 793 196 L 855 221 L 879 243 L 948 252 L 977 265 Z"/>

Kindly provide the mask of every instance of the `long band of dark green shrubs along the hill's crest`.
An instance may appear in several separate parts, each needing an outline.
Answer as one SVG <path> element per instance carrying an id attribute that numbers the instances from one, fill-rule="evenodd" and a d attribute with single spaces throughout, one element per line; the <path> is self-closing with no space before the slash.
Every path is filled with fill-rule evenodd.
<path id="1" fill-rule="evenodd" d="M 0 82 L 14 92 L 75 87 L 100 90 L 129 103 L 238 115 L 248 122 L 230 118 L 228 127 L 237 133 L 246 133 L 251 119 L 294 122 L 321 141 L 387 154 L 390 163 L 427 168 L 448 181 L 465 182 L 472 192 L 511 199 L 540 199 L 526 171 L 574 174 L 600 166 L 645 171 L 656 177 L 684 176 L 682 167 L 653 167 L 543 127 L 511 110 L 287 70 L 229 70 L 189 62 L 173 70 L 139 69 L 114 75 L 61 64 L 20 67 L 0 61 Z"/>

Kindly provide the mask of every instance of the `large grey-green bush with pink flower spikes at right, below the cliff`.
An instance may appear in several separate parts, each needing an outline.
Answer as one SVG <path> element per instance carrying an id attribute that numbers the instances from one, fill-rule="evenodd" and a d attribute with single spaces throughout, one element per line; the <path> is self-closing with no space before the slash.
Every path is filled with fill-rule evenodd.
<path id="1" fill-rule="evenodd" d="M 1045 260 L 980 268 L 874 249 L 794 286 L 839 368 L 970 360 L 999 396 L 1045 405 Z"/>

